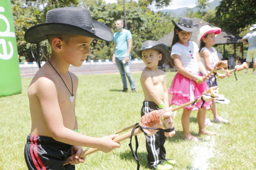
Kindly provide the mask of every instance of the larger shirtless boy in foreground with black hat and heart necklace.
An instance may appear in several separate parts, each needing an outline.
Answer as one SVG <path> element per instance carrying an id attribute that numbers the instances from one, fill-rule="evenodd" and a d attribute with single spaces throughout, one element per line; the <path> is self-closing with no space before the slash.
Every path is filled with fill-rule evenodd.
<path id="1" fill-rule="evenodd" d="M 75 103 L 78 78 L 68 72 L 70 64 L 81 66 L 93 40 L 112 40 L 111 30 L 93 21 L 84 8 L 65 7 L 47 12 L 46 22 L 29 28 L 25 40 L 39 43 L 48 39 L 51 57 L 35 74 L 27 90 L 32 127 L 24 149 L 29 170 L 74 170 L 82 147 L 110 152 L 120 144 L 116 135 L 95 138 L 78 133 Z M 38 45 L 38 44 L 37 44 Z M 40 59 L 37 58 L 38 66 Z M 71 155 L 68 165 L 63 161 Z"/>

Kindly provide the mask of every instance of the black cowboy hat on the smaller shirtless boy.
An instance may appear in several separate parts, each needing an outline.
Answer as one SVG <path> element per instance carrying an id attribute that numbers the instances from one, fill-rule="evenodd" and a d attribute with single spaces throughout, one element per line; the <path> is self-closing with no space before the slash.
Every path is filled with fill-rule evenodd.
<path id="1" fill-rule="evenodd" d="M 169 49 L 168 47 L 163 43 L 158 43 L 153 40 L 146 40 L 142 43 L 140 50 L 133 50 L 136 55 L 138 55 L 140 58 L 142 58 L 141 52 L 145 49 L 156 49 L 160 53 L 162 53 L 162 59 L 158 62 L 158 66 L 161 66 L 164 64 L 169 56 Z"/>

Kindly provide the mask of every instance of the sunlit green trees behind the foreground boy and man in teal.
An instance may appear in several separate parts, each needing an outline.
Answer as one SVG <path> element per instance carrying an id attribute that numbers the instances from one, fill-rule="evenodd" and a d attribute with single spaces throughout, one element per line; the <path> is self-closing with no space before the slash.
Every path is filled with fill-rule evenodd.
<path id="1" fill-rule="evenodd" d="M 171 2 L 171 0 L 168 1 Z M 164 3 L 167 0 L 156 2 Z M 80 0 L 79 2 L 77 0 L 12 0 L 19 55 L 24 56 L 27 61 L 33 61 L 30 50 L 32 44 L 26 43 L 24 40 L 26 29 L 35 24 L 44 23 L 46 12 L 49 9 L 64 6 L 79 6 L 89 9 L 92 19 L 105 23 L 113 33 L 117 31 L 115 30 L 115 21 L 124 19 L 122 0 L 112 4 L 106 4 L 104 0 Z M 161 12 L 154 13 L 145 4 L 138 5 L 136 1 L 127 1 L 126 12 L 127 28 L 132 32 L 133 37 L 132 49 L 139 49 L 144 40 L 158 40 L 173 29 L 170 22 L 172 17 L 162 15 Z M 47 41 L 43 41 L 41 44 L 44 53 L 49 57 L 50 47 Z M 111 59 L 113 42 L 94 39 L 90 51 L 89 60 Z M 137 58 L 133 52 L 132 58 Z"/>

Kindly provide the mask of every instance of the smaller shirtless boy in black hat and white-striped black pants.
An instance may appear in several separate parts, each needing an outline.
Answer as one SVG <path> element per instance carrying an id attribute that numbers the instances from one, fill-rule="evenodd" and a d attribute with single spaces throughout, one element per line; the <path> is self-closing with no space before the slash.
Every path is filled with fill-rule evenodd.
<path id="1" fill-rule="evenodd" d="M 141 116 L 156 109 L 168 108 L 168 92 L 165 81 L 165 72 L 157 66 L 166 62 L 169 56 L 168 47 L 163 43 L 146 40 L 142 43 L 141 50 L 134 52 L 146 64 L 141 73 L 141 86 L 144 92 L 144 102 L 141 108 Z M 172 127 L 174 125 L 172 124 Z M 172 132 L 173 135 L 175 131 Z M 159 130 L 155 135 L 148 136 L 146 133 L 147 161 L 150 169 L 171 170 L 174 160 L 165 159 L 164 131 Z"/>

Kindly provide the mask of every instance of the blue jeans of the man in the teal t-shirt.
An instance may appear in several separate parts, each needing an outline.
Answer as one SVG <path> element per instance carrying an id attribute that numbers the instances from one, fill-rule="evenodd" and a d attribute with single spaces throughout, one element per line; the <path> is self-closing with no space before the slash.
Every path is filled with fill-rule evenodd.
<path id="1" fill-rule="evenodd" d="M 126 75 L 129 80 L 131 89 L 135 89 L 134 80 L 130 71 L 130 61 L 128 63 L 123 63 L 124 59 L 125 57 L 115 58 L 116 66 L 118 67 L 123 82 L 123 88 L 127 88 L 127 81 L 125 77 Z"/>

